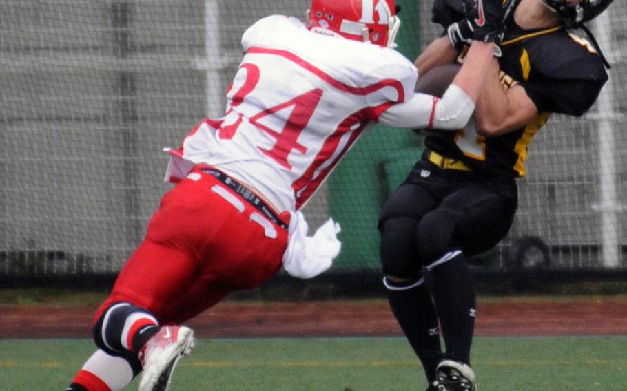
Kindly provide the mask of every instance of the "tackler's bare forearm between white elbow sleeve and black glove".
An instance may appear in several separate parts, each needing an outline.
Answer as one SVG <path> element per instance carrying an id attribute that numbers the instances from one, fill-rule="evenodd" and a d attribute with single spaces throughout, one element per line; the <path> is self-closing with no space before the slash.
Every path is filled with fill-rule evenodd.
<path id="1" fill-rule="evenodd" d="M 493 57 L 493 44 L 473 41 L 464 59 L 464 65 L 453 79 L 453 84 L 464 90 L 473 103 L 477 103 L 486 75 L 495 65 L 497 62 Z"/>

